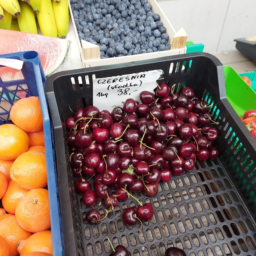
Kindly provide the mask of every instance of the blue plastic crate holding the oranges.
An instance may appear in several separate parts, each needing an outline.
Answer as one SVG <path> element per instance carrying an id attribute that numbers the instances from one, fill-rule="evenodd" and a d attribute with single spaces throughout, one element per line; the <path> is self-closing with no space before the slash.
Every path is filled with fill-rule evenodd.
<path id="1" fill-rule="evenodd" d="M 20 99 L 16 94 L 18 89 L 23 90 L 26 93 L 26 97 L 38 96 L 40 100 L 41 110 L 43 114 L 44 122 L 44 144 L 46 154 L 46 166 L 47 166 L 47 179 L 48 179 L 48 194 L 50 202 L 50 218 L 51 218 L 51 231 L 53 241 L 53 255 L 62 255 L 62 225 L 61 215 L 59 208 L 59 195 L 57 190 L 57 175 L 55 166 L 55 151 L 53 144 L 53 137 L 51 136 L 51 124 L 48 114 L 48 105 L 46 101 L 46 94 L 44 91 L 45 75 L 41 66 L 41 61 L 38 53 L 35 51 L 4 54 L 0 55 L 0 58 L 20 59 L 24 61 L 23 68 L 21 70 L 24 79 L 16 81 L 3 82 L 0 78 L 0 87 L 2 92 L 0 93 L 1 101 L 5 100 L 5 105 L 9 105 L 7 109 L 0 106 L 0 125 L 9 122 L 10 107 L 14 104 L 15 99 Z M 2 66 L 0 66 L 1 69 Z M 21 85 L 26 84 L 28 91 L 22 89 Z M 15 90 L 8 90 L 9 86 L 16 87 Z M 8 102 L 8 104 L 7 104 Z M 3 104 L 2 104 L 3 105 Z"/>

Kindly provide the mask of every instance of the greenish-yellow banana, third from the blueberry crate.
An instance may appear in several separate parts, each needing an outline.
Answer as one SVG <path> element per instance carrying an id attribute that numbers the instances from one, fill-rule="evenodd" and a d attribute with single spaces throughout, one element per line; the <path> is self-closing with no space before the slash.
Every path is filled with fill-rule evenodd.
<path id="1" fill-rule="evenodd" d="M 20 1 L 20 15 L 18 16 L 18 23 L 21 32 L 37 34 L 37 27 L 35 23 L 35 14 L 32 7 Z"/>

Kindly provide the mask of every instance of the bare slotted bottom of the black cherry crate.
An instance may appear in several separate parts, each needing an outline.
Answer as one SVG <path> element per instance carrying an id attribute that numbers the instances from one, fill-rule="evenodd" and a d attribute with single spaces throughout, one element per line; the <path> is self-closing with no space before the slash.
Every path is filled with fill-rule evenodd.
<path id="1" fill-rule="evenodd" d="M 126 226 L 121 217 L 126 208 L 138 207 L 135 200 L 119 202 L 104 221 L 91 225 L 85 220 L 88 208 L 79 197 L 84 230 L 80 250 L 85 255 L 110 254 L 106 236 L 132 256 L 164 255 L 171 246 L 184 249 L 187 256 L 256 255 L 255 223 L 219 159 L 197 161 L 192 172 L 160 183 L 155 197 L 134 195 L 154 207 L 154 217 L 143 223 L 142 232 L 140 224 Z M 102 216 L 104 209 L 99 207 Z"/>

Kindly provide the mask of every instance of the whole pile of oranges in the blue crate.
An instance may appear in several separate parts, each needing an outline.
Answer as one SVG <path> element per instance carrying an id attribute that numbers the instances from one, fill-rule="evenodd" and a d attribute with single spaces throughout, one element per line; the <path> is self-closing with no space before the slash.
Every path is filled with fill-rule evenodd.
<path id="1" fill-rule="evenodd" d="M 38 97 L 20 99 L 0 125 L 0 256 L 53 255 Z"/>

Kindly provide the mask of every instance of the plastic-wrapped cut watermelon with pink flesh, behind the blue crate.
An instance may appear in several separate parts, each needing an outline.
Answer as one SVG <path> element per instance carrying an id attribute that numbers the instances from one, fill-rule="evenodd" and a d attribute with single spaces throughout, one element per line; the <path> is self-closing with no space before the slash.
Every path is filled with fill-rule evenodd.
<path id="1" fill-rule="evenodd" d="M 53 73 L 64 61 L 70 41 L 43 35 L 0 29 L 0 54 L 23 51 L 39 53 L 45 76 Z M 0 68 L 3 81 L 23 79 L 20 71 L 8 67 Z"/>

